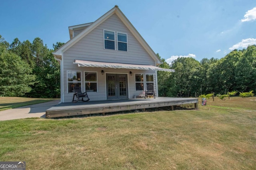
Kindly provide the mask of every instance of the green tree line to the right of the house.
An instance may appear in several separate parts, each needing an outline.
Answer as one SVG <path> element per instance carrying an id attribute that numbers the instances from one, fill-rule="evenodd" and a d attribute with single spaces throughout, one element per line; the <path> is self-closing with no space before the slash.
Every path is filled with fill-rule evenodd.
<path id="1" fill-rule="evenodd" d="M 171 64 L 164 59 L 161 61 L 160 67 L 175 69 L 175 72 L 158 72 L 159 96 L 190 97 L 195 93 L 256 91 L 256 45 L 235 49 L 222 59 L 204 58 L 199 62 L 182 57 Z"/>

